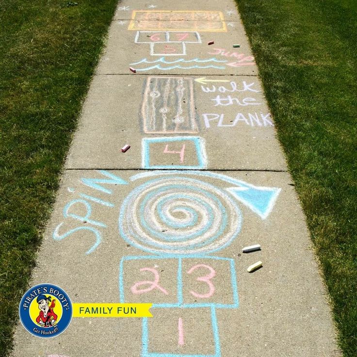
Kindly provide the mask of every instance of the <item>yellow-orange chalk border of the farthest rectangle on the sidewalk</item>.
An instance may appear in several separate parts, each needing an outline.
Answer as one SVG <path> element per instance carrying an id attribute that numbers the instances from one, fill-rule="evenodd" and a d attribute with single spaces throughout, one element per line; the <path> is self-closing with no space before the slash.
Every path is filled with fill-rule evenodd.
<path id="1" fill-rule="evenodd" d="M 135 16 L 136 13 L 206 13 L 206 14 L 218 14 L 222 21 L 222 29 L 219 30 L 202 30 L 197 28 L 188 28 L 188 29 L 171 29 L 171 28 L 153 28 L 153 29 L 137 29 L 135 28 Z M 151 21 L 151 20 L 149 20 Z M 155 20 L 152 20 L 155 21 Z M 183 20 L 183 21 L 191 21 L 191 20 Z M 197 20 L 192 20 L 197 21 Z M 199 21 L 199 20 L 198 20 Z M 131 20 L 128 26 L 128 30 L 133 31 L 199 31 L 199 32 L 227 32 L 227 25 L 225 19 L 223 17 L 222 11 L 203 11 L 203 10 L 133 10 L 131 13 Z"/>

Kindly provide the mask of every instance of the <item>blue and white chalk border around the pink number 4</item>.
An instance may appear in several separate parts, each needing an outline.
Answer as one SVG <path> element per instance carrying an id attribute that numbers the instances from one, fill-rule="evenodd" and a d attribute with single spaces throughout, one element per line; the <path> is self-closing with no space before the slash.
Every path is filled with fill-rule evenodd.
<path id="1" fill-rule="evenodd" d="M 150 165 L 150 144 L 175 141 L 192 141 L 195 144 L 198 165 Z M 199 136 L 168 136 L 142 139 L 142 168 L 144 169 L 189 169 L 198 170 L 207 167 L 207 156 L 204 140 Z"/>

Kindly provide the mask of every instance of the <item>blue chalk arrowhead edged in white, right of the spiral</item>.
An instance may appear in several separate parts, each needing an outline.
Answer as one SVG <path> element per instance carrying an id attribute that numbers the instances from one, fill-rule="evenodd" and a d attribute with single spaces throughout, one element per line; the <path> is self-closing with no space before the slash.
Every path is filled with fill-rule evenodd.
<path id="1" fill-rule="evenodd" d="M 229 187 L 226 190 L 253 212 L 259 214 L 261 219 L 268 217 L 281 191 L 280 188 L 257 187 L 247 183 L 244 183 L 243 187 Z"/>

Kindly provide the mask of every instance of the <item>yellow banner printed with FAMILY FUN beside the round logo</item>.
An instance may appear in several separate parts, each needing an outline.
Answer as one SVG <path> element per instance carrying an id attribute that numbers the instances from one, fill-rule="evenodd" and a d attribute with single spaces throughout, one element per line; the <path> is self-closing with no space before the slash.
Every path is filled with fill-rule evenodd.
<path id="1" fill-rule="evenodd" d="M 72 317 L 152 317 L 152 304 L 72 303 Z"/>

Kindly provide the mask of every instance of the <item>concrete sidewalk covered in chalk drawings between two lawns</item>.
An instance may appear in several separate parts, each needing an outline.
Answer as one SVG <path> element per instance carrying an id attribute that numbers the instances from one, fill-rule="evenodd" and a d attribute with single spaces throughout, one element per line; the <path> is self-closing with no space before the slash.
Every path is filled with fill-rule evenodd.
<path id="1" fill-rule="evenodd" d="M 30 286 L 45 282 L 154 317 L 73 318 L 52 339 L 19 324 L 14 357 L 340 356 L 232 0 L 118 4 Z"/>

